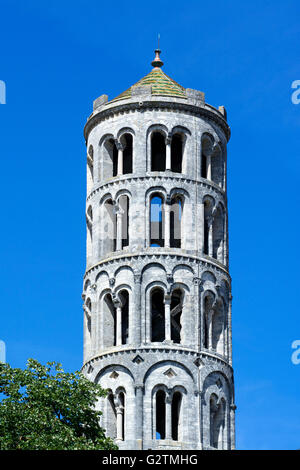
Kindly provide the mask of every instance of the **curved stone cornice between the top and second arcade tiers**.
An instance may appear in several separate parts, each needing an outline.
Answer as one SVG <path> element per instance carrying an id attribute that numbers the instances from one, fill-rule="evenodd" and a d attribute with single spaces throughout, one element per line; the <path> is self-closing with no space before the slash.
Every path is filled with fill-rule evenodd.
<path id="1" fill-rule="evenodd" d="M 108 190 L 110 187 L 114 185 L 117 186 L 122 182 L 125 182 L 125 183 L 131 183 L 132 181 L 143 182 L 145 180 L 149 180 L 149 181 L 157 180 L 159 182 L 176 181 L 182 184 L 194 184 L 194 185 L 197 184 L 198 186 L 201 186 L 204 188 L 213 189 L 214 191 L 217 191 L 222 196 L 224 196 L 225 200 L 227 199 L 226 192 L 222 188 L 220 188 L 220 186 L 218 186 L 213 181 L 209 181 L 205 178 L 194 179 L 194 178 L 189 178 L 187 175 L 184 175 L 184 174 L 181 174 L 180 176 L 179 174 L 175 175 L 175 174 L 165 174 L 165 173 L 162 175 L 157 175 L 155 174 L 155 172 L 149 172 L 149 173 L 146 173 L 145 175 L 135 176 L 131 174 L 131 175 L 118 176 L 118 177 L 111 178 L 109 181 L 99 183 L 98 186 L 92 189 L 92 191 L 87 196 L 86 200 L 89 201 L 94 196 L 94 194 L 98 193 L 99 191 L 103 189 Z"/>

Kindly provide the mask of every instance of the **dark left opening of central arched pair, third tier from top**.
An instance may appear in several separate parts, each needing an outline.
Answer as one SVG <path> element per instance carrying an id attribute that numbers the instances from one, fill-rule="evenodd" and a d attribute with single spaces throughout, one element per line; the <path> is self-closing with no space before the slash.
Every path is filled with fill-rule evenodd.
<path id="1" fill-rule="evenodd" d="M 164 291 L 156 288 L 151 292 L 151 341 L 162 342 L 165 339 Z"/>

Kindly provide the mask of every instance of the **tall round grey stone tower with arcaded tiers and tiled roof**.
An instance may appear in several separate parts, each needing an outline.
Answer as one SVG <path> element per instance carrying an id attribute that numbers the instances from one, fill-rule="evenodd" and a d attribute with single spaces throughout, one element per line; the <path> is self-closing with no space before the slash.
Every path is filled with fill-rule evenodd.
<path id="1" fill-rule="evenodd" d="M 233 449 L 226 111 L 152 70 L 94 101 L 84 364 L 120 449 Z"/>

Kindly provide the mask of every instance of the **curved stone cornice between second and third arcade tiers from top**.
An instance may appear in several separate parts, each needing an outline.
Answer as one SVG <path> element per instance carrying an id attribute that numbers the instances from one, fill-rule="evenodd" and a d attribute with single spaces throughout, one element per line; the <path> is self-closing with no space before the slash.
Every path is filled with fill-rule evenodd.
<path id="1" fill-rule="evenodd" d="M 188 262 L 201 264 L 204 268 L 212 269 L 221 274 L 226 274 L 226 276 L 228 276 L 230 279 L 230 275 L 226 267 L 223 264 L 219 263 L 217 260 L 210 258 L 206 255 L 201 257 L 183 253 L 180 248 L 178 248 L 178 252 L 175 251 L 176 248 L 172 248 L 170 249 L 170 251 L 167 251 L 165 248 L 160 248 L 161 251 L 158 250 L 159 248 L 148 248 L 147 251 L 146 249 L 144 252 L 140 250 L 138 253 L 124 253 L 124 251 L 112 253 L 112 256 L 110 256 L 109 258 L 105 258 L 99 261 L 97 264 L 90 266 L 84 274 L 84 280 L 93 271 L 103 269 L 103 267 L 105 266 L 111 266 L 113 263 L 119 264 L 120 262 L 128 261 L 128 264 L 132 265 L 133 260 L 140 261 L 142 259 L 147 260 L 149 262 L 153 260 L 161 260 L 162 262 L 165 262 L 164 260 L 162 260 L 163 258 L 173 258 L 176 259 L 178 263 Z"/>

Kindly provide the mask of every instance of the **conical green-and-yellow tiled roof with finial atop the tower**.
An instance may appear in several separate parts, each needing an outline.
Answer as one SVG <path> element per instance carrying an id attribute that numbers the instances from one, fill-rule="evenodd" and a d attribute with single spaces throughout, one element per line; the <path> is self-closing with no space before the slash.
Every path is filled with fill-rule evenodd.
<path id="1" fill-rule="evenodd" d="M 160 51 L 157 50 L 156 52 Z M 161 70 L 160 67 L 163 65 L 163 62 L 160 61 L 159 55 L 157 55 L 157 58 L 152 62 L 152 65 L 154 65 L 154 68 L 150 73 L 148 73 L 148 75 L 141 78 L 141 80 L 128 88 L 128 90 L 123 91 L 123 93 L 111 100 L 111 103 L 114 101 L 131 98 L 131 90 L 133 87 L 147 85 L 152 87 L 152 95 L 154 96 L 174 96 L 177 98 L 186 98 L 185 88 L 179 85 L 177 82 L 175 82 L 175 80 L 170 78 Z"/>

